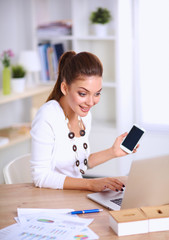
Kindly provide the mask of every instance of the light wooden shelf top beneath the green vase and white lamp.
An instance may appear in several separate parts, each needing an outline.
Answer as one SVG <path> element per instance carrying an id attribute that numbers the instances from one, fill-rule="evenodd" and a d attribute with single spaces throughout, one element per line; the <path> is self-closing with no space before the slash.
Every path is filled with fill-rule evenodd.
<path id="1" fill-rule="evenodd" d="M 9 103 L 18 99 L 28 98 L 41 93 L 50 91 L 53 84 L 40 84 L 36 85 L 34 88 L 28 88 L 22 93 L 11 93 L 9 95 L 3 95 L 2 90 L 0 91 L 0 104 Z"/>

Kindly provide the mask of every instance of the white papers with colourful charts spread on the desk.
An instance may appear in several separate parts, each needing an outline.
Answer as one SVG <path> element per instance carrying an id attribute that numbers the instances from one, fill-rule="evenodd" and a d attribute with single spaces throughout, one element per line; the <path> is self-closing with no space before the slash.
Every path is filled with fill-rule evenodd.
<path id="1" fill-rule="evenodd" d="M 93 221 L 67 214 L 73 209 L 18 209 L 18 222 L 0 230 L 3 240 L 73 240 L 99 237 L 87 226 Z"/>

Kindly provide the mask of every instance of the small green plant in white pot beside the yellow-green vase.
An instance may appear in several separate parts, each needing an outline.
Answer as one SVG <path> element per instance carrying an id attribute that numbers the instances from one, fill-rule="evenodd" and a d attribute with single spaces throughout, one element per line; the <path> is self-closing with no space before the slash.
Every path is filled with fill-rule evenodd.
<path id="1" fill-rule="evenodd" d="M 22 65 L 12 66 L 11 87 L 13 92 L 23 92 L 25 90 L 26 70 Z"/>

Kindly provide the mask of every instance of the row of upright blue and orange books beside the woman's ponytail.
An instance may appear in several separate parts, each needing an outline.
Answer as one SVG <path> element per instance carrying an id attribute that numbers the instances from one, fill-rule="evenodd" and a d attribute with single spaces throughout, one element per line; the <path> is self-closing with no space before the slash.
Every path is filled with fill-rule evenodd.
<path id="1" fill-rule="evenodd" d="M 38 45 L 40 63 L 41 63 L 41 80 L 47 82 L 57 79 L 58 62 L 64 53 L 63 43 L 39 43 Z"/>

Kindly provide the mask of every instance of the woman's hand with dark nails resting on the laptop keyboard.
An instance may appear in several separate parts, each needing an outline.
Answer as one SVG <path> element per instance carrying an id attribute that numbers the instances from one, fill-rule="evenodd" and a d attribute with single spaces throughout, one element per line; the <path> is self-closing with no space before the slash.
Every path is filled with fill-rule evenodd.
<path id="1" fill-rule="evenodd" d="M 119 181 L 117 178 L 105 177 L 105 178 L 95 178 L 89 180 L 89 190 L 93 192 L 101 192 L 106 188 L 113 191 L 123 191 L 124 183 Z"/>

